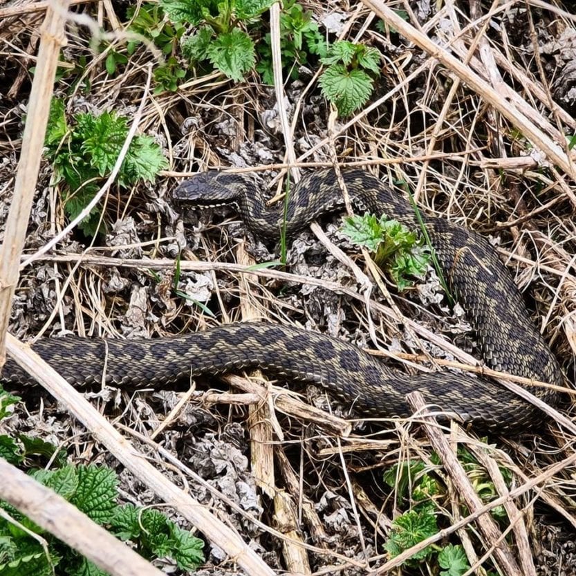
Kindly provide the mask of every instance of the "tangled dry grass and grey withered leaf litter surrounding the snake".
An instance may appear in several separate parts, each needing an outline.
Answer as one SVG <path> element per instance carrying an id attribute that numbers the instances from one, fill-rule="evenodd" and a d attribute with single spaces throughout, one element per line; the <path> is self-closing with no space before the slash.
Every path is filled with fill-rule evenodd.
<path id="1" fill-rule="evenodd" d="M 344 4 L 352 6 L 346 11 Z M 561 10 L 543 8 L 540 2 L 508 3 L 494 10 L 491 18 L 471 25 L 465 2 L 443 3 L 441 12 L 436 12 L 435 3 L 407 4 L 414 10 L 407 17 L 413 23 L 417 19 L 438 44 L 452 43 L 458 57 L 464 58 L 472 43 L 479 42 L 484 53 L 477 50 L 469 66 L 491 78 L 494 86 L 498 79 L 512 86 L 545 119 L 541 129 L 554 140 L 564 134 L 560 145 L 570 145 L 570 136 L 576 133 L 575 19 Z M 490 10 L 489 3 L 470 4 L 482 15 Z M 463 83 L 455 87 L 455 77 L 447 68 L 431 62 L 402 35 L 375 26 L 373 15 L 361 3 L 310 1 L 306 6 L 319 20 L 342 15 L 346 38 L 378 47 L 384 55 L 383 70 L 373 100 L 384 98 L 368 115 L 353 118 L 346 129 L 342 129 L 344 120 L 330 126 L 330 111 L 319 97 L 316 79 L 303 68 L 298 80 L 286 84 L 281 103 L 293 122 L 289 138 L 301 169 L 329 166 L 334 157 L 342 167 L 364 164 L 364 169 L 389 185 L 400 184 L 414 192 L 420 210 L 485 234 L 525 292 L 532 318 L 543 328 L 570 387 L 576 352 L 576 196 L 570 176 L 543 160 L 483 95 Z M 103 10 L 104 19 L 113 20 L 114 11 L 123 14 L 124 7 L 113 1 Z M 89 2 L 80 11 L 95 14 Z M 41 15 L 34 12 L 0 20 L 0 38 L 8 53 L 0 62 L 0 85 L 5 86 L 3 96 L 10 96 L 0 100 L 0 232 L 12 201 L 30 86 L 29 63 L 21 50 L 33 51 L 30 30 L 40 21 Z M 491 57 L 485 57 L 486 52 Z M 91 57 L 85 31 L 69 35 L 66 54 Z M 150 57 L 145 50 L 140 54 L 140 62 L 134 57 L 115 76 L 109 76 L 103 66 L 93 66 L 91 89 L 77 94 L 74 105 L 80 110 L 133 111 L 133 102 L 139 102 L 142 94 L 140 64 Z M 407 80 L 418 69 L 420 73 Z M 211 77 L 180 92 L 155 95 L 145 107 L 140 129 L 162 142 L 176 173 L 257 167 L 263 189 L 275 196 L 284 189 L 278 165 L 286 153 L 275 92 L 255 75 L 243 83 L 221 80 Z M 62 95 L 67 89 L 66 82 L 57 84 Z M 502 92 L 501 97 L 507 100 L 508 95 Z M 267 169 L 271 164 L 275 167 Z M 65 225 L 58 189 L 50 177 L 50 167 L 44 163 L 27 254 Z M 84 253 L 86 239 L 72 234 L 56 250 L 24 268 L 12 308 L 12 334 L 22 340 L 39 333 L 152 338 L 203 330 L 250 315 L 328 333 L 360 348 L 378 348 L 385 362 L 412 373 L 454 369 L 451 364 L 461 358 L 458 351 L 474 353 L 474 334 L 458 308 L 447 306 L 434 273 L 400 295 L 379 278 L 372 283 L 371 299 L 380 305 L 365 305 L 355 270 L 327 248 L 340 246 L 367 272 L 362 253 L 338 232 L 340 215 L 322 222 L 326 239 L 305 231 L 289 243 L 288 279 L 275 273 L 279 268 L 243 275 L 237 264 L 275 260 L 278 246 L 247 234 L 234 207 L 198 211 L 174 205 L 170 192 L 177 182 L 174 174 L 163 174 L 156 184 L 140 185 L 131 194 L 110 194 L 104 212 L 108 231 L 91 250 Z M 252 261 L 239 252 L 240 242 Z M 179 254 L 183 265 L 175 290 L 175 268 L 166 260 L 174 261 Z M 146 266 L 138 266 L 143 257 Z M 187 267 L 187 262 L 192 265 Z M 335 290 L 335 285 L 345 289 Z M 351 296 L 350 289 L 357 297 Z M 384 307 L 393 311 L 384 313 Z M 429 339 L 427 333 L 439 338 Z M 382 474 L 397 463 L 420 460 L 437 470 L 441 482 L 449 483 L 445 472 L 433 464 L 429 440 L 418 423 L 353 419 L 351 434 L 337 436 L 327 431 L 326 420 L 353 418 L 351 407 L 313 387 L 298 389 L 298 398 L 321 411 L 297 417 L 278 409 L 259 416 L 254 406 L 269 406 L 270 399 L 276 402 L 286 391 L 282 382 L 256 387 L 252 376 L 248 378 L 241 391 L 214 378 L 194 382 L 194 390 L 187 392 L 95 390 L 89 397 L 124 429 L 151 436 L 192 470 L 194 474 L 177 470 L 174 463 L 165 463 L 156 447 L 142 445 L 158 467 L 165 466 L 174 482 L 184 480 L 196 499 L 234 526 L 272 568 L 286 568 L 286 548 L 290 542 L 297 547 L 293 539 L 299 538 L 308 544 L 310 573 L 333 570 L 351 576 L 378 570 L 388 559 L 382 544 L 398 513 L 396 500 L 401 500 L 400 488 L 388 487 Z M 182 406 L 183 394 L 189 399 Z M 63 443 L 78 461 L 115 466 L 57 405 L 48 398 L 40 400 L 39 391 L 28 389 L 25 397 L 28 414 L 10 418 L 4 427 Z M 246 402 L 252 402 L 250 408 Z M 572 414 L 570 396 L 566 395 L 560 410 Z M 275 463 L 275 470 L 266 476 L 266 482 L 275 485 L 266 487 L 258 463 L 251 461 L 252 443 L 257 441 L 254 429 L 261 419 L 270 427 L 269 449 Z M 512 488 L 573 453 L 573 434 L 553 419 L 543 418 L 538 434 L 519 438 L 467 434 L 474 438 L 470 441 L 475 449 L 514 472 Z M 576 572 L 575 472 L 573 464 L 566 465 L 539 485 L 538 494 L 531 490 L 515 500 L 524 515 L 539 574 Z M 154 503 L 154 495 L 129 474 L 123 474 L 122 481 L 127 499 Z M 271 493 L 288 495 L 291 522 L 279 522 L 278 499 L 270 499 Z M 452 523 L 467 514 L 456 496 L 443 498 Z M 449 522 L 444 527 L 448 526 Z M 292 535 L 292 541 L 283 547 L 278 532 Z M 470 547 L 469 561 L 474 548 L 478 557 L 483 555 L 479 539 L 469 535 L 464 540 Z M 206 552 L 207 565 L 198 574 L 236 573 L 233 561 L 219 546 L 208 543 Z M 416 568 L 406 570 L 420 573 Z"/>

